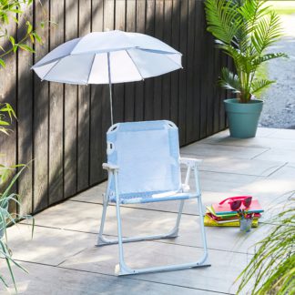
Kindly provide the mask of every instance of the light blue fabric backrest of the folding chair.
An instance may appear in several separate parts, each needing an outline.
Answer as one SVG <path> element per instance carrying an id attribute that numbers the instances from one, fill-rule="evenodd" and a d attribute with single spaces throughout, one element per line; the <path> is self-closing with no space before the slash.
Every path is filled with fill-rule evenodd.
<path id="1" fill-rule="evenodd" d="M 167 120 L 117 123 L 107 131 L 107 162 L 119 167 L 121 198 L 178 191 L 178 127 Z"/>

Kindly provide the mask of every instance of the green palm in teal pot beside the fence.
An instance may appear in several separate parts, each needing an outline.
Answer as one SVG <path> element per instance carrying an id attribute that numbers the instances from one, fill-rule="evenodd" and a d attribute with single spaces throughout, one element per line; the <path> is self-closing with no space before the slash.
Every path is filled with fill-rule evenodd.
<path id="1" fill-rule="evenodd" d="M 270 59 L 286 56 L 269 48 L 282 36 L 280 17 L 261 0 L 206 0 L 207 30 L 230 56 L 235 72 L 221 69 L 219 85 L 235 98 L 225 99 L 231 137 L 255 137 L 263 102 L 254 97 L 274 83 L 259 78 L 259 67 Z"/>

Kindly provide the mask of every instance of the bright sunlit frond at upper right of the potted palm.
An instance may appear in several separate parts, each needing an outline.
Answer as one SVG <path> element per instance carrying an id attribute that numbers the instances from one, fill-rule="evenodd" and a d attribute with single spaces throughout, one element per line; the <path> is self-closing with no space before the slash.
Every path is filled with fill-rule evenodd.
<path id="1" fill-rule="evenodd" d="M 280 16 L 275 12 L 270 12 L 259 20 L 255 31 L 251 36 L 251 43 L 259 54 L 278 41 L 281 36 Z"/>

